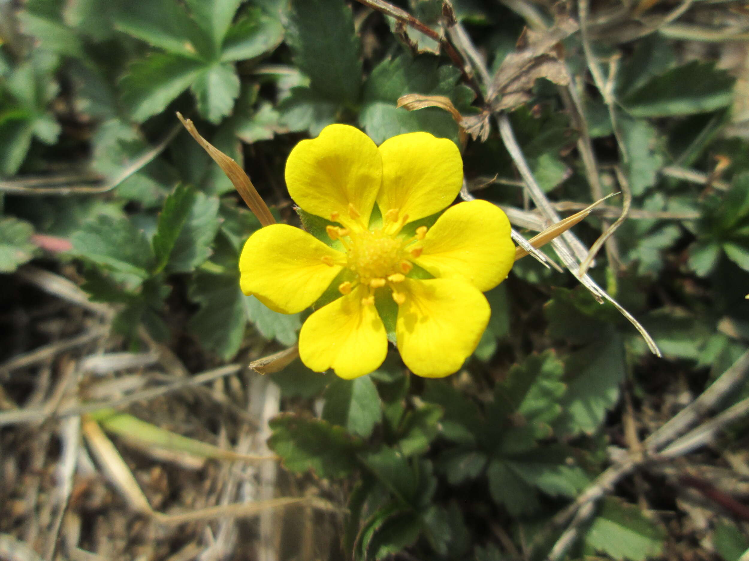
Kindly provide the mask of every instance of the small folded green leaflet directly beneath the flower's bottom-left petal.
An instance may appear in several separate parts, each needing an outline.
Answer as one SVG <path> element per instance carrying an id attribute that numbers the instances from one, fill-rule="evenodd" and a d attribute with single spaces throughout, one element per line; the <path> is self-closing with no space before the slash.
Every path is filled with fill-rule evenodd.
<path id="1" fill-rule="evenodd" d="M 333 380 L 324 398 L 323 419 L 345 427 L 352 435 L 368 438 L 382 420 L 380 396 L 369 376 Z"/>

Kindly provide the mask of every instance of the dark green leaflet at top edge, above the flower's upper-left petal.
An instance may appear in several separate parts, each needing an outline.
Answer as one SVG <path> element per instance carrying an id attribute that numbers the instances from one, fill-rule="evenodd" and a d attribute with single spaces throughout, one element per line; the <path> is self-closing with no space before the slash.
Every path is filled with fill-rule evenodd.
<path id="1" fill-rule="evenodd" d="M 336 103 L 357 102 L 361 43 L 344 0 L 291 0 L 288 43 L 312 89 Z"/>

